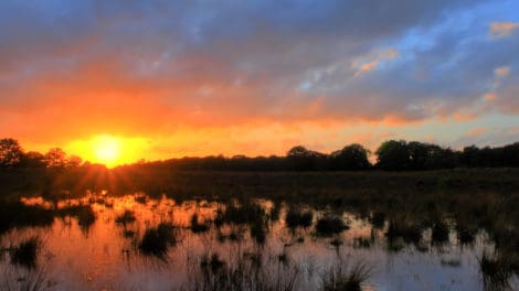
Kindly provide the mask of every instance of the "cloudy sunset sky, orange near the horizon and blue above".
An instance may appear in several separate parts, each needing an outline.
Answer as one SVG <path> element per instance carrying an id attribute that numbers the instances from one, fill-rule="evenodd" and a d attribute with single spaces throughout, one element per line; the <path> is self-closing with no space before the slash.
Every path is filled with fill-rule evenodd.
<path id="1" fill-rule="evenodd" d="M 519 1 L 2 0 L 0 136 L 119 162 L 511 143 Z"/>

